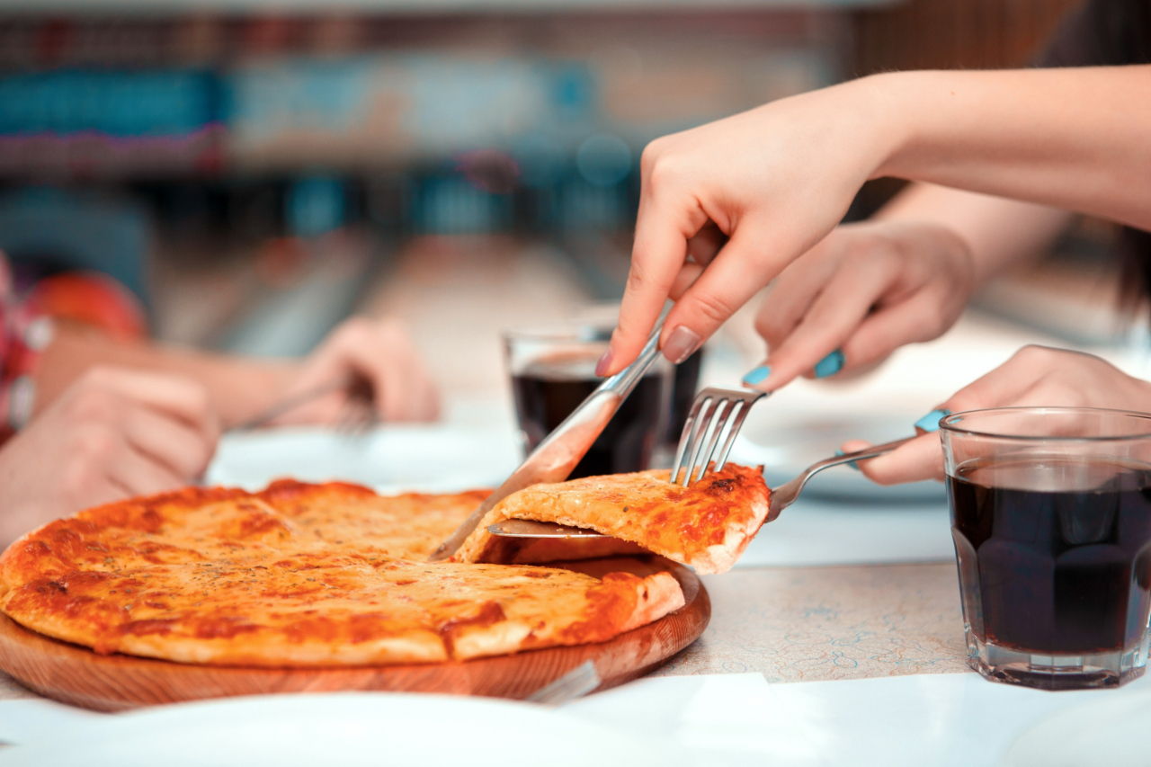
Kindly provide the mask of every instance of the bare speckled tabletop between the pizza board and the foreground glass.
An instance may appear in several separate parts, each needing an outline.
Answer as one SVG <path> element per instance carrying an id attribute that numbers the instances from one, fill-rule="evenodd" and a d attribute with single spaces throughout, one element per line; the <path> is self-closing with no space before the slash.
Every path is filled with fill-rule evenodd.
<path id="1" fill-rule="evenodd" d="M 950 562 L 733 570 L 703 583 L 711 624 L 657 676 L 814 682 L 967 670 Z M 33 697 L 0 674 L 0 700 Z"/>

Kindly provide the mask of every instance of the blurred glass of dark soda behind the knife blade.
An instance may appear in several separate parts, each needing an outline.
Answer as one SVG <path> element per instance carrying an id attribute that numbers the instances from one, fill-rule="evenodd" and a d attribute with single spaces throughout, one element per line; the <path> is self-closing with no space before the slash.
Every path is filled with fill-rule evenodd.
<path id="1" fill-rule="evenodd" d="M 610 340 L 611 327 L 582 322 L 503 334 L 525 455 L 600 386 L 603 379 L 596 378 L 595 364 Z M 671 371 L 663 357 L 651 365 L 572 471 L 572 479 L 651 466 L 671 411 Z"/>

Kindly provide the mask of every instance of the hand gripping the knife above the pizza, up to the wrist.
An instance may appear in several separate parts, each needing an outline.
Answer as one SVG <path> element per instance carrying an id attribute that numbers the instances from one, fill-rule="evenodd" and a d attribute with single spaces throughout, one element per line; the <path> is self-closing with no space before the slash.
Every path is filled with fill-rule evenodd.
<path id="1" fill-rule="evenodd" d="M 631 273 L 600 374 L 635 358 L 669 297 L 661 343 L 683 362 L 839 223 L 895 143 L 875 82 L 782 99 L 647 146 Z"/>

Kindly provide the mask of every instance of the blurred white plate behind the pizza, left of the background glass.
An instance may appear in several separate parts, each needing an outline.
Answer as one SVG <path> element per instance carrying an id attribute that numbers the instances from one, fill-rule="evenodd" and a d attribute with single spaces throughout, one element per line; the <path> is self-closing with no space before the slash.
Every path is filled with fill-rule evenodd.
<path id="1" fill-rule="evenodd" d="M 212 485 L 264 487 L 273 479 L 342 479 L 380 492 L 495 487 L 519 464 L 510 430 L 386 426 L 360 436 L 321 428 L 228 434 L 208 468 Z"/>

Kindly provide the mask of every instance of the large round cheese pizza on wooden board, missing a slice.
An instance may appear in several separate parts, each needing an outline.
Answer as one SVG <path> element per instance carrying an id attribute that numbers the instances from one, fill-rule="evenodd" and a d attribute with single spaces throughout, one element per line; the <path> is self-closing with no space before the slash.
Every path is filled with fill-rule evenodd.
<path id="1" fill-rule="evenodd" d="M 323 667 L 604 641 L 684 605 L 665 571 L 427 562 L 485 496 L 285 480 L 130 499 L 13 544 L 0 610 L 97 653 Z"/>

